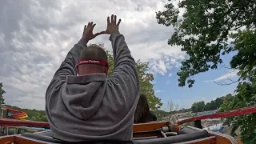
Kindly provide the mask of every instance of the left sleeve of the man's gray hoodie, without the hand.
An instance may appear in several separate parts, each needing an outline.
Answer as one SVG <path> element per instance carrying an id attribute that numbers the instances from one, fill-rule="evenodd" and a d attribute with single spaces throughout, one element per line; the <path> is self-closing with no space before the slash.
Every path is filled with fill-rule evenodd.
<path id="1" fill-rule="evenodd" d="M 77 70 L 75 68 L 78 63 L 78 58 L 83 48 L 87 47 L 86 42 L 82 39 L 74 45 L 74 47 L 66 55 L 65 60 L 54 74 L 54 78 L 51 80 L 50 85 L 46 90 L 46 102 L 48 95 L 52 90 L 59 90 L 59 88 L 66 82 L 67 75 L 76 75 Z"/>

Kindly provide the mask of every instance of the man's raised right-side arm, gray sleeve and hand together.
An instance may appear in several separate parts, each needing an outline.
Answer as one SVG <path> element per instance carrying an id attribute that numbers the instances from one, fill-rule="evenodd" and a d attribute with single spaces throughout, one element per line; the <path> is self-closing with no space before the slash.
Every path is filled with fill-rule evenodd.
<path id="1" fill-rule="evenodd" d="M 110 75 L 109 79 L 111 82 L 118 82 L 120 84 L 118 86 L 122 86 L 122 90 L 136 90 L 139 92 L 136 63 L 130 54 L 124 36 L 119 33 L 120 22 L 121 19 L 117 22 L 117 17 L 111 15 L 111 20 L 109 17 L 107 18 L 106 31 L 102 32 L 110 34 L 110 41 L 113 47 L 114 73 Z"/>

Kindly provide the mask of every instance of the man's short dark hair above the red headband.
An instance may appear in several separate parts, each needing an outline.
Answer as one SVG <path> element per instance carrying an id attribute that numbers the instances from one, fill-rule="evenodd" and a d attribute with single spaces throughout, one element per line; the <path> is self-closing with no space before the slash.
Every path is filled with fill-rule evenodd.
<path id="1" fill-rule="evenodd" d="M 107 62 L 107 54 L 100 46 L 92 45 L 81 51 L 79 60 L 82 59 L 98 59 Z"/>

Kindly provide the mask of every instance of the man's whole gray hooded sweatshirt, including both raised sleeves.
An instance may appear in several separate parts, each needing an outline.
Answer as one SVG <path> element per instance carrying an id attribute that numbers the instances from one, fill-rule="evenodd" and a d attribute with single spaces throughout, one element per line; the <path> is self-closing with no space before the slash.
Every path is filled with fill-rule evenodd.
<path id="1" fill-rule="evenodd" d="M 80 40 L 67 54 L 46 90 L 46 117 L 54 138 L 66 142 L 131 141 L 139 78 L 122 34 L 110 35 L 114 73 L 77 76 L 75 65 L 86 49 Z"/>

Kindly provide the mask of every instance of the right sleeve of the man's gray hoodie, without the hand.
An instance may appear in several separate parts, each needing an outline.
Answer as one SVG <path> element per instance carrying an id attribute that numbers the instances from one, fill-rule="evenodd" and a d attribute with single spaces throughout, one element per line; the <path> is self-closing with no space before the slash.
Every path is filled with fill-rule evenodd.
<path id="1" fill-rule="evenodd" d="M 127 97 L 130 97 L 130 94 L 138 94 L 140 86 L 137 66 L 130 54 L 125 37 L 117 32 L 110 35 L 110 41 L 113 47 L 114 58 L 114 73 L 110 75 L 110 81 L 118 84 L 117 87 L 120 87 L 122 92 L 129 93 Z"/>

